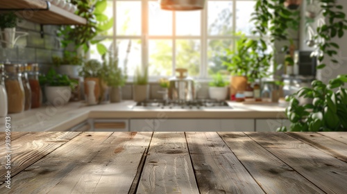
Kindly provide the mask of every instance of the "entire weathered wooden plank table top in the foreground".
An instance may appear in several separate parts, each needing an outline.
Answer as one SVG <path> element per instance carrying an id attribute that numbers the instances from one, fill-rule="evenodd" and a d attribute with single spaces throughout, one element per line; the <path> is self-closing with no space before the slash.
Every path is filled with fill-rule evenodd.
<path id="1" fill-rule="evenodd" d="M 347 193 L 347 132 L 12 132 L 0 193 Z M 6 164 L 0 133 L 1 167 Z"/>

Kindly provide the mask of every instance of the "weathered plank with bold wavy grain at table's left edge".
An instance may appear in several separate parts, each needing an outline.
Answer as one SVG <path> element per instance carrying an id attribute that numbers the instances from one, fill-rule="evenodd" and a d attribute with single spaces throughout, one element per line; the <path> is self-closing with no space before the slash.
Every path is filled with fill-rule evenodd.
<path id="1" fill-rule="evenodd" d="M 53 150 L 56 150 L 61 145 L 64 145 L 79 132 L 33 132 L 22 137 L 16 141 L 11 141 L 11 175 L 14 177 L 17 173 L 21 172 L 31 164 L 42 157 L 48 155 Z M 6 163 L 6 147 L 0 147 L 0 161 L 1 164 Z M 0 169 L 0 183 L 6 178 L 8 169 Z"/>

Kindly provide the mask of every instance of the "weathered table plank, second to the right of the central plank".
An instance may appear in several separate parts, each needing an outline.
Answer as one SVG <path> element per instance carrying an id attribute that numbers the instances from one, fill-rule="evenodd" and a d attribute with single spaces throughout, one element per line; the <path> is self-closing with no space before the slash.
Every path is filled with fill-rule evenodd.
<path id="1" fill-rule="evenodd" d="M 219 132 L 265 193 L 324 193 L 243 132 Z"/>

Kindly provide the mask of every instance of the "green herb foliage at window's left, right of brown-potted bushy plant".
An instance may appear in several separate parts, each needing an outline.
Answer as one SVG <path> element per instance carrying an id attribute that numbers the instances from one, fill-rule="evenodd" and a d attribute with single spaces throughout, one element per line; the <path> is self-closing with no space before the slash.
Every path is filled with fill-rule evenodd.
<path id="1" fill-rule="evenodd" d="M 110 87 L 124 86 L 128 76 L 126 75 L 126 69 L 122 71 L 118 67 L 118 60 L 112 55 L 109 55 L 108 59 L 103 56 L 103 67 L 101 68 L 101 78 Z"/>

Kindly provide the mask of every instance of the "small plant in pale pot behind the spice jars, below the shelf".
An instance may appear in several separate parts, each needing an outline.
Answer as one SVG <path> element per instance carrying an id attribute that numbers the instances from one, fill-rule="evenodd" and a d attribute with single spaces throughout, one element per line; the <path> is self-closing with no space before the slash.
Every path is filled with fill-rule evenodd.
<path id="1" fill-rule="evenodd" d="M 58 73 L 69 76 L 69 78 L 78 79 L 78 72 L 81 71 L 83 59 L 76 53 L 65 51 L 62 58 L 52 57 L 53 64 L 58 68 Z"/>

